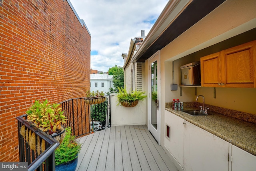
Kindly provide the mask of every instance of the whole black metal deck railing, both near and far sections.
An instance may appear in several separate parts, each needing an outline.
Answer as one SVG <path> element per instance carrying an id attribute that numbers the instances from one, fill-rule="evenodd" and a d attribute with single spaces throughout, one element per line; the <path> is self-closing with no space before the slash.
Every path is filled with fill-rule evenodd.
<path id="1" fill-rule="evenodd" d="M 60 104 L 68 119 L 64 127 L 71 127 L 76 137 L 111 127 L 109 95 L 100 104 L 88 105 L 85 98 L 69 99 Z M 54 150 L 60 143 L 26 121 L 27 115 L 16 119 L 20 162 L 28 162 L 28 171 L 55 171 Z"/>

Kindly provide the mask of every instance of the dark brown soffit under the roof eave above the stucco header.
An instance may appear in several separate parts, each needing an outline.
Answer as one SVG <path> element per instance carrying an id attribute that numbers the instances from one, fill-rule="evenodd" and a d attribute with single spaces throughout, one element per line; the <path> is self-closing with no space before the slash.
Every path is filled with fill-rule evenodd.
<path id="1" fill-rule="evenodd" d="M 186 9 L 166 28 L 166 30 L 146 50 L 136 54 L 134 62 L 145 62 L 199 20 L 204 18 L 225 0 L 193 0 Z"/>

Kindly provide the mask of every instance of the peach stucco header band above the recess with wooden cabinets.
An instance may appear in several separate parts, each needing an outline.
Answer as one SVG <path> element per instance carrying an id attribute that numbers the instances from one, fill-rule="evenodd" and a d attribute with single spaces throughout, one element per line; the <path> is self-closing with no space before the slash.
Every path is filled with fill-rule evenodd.
<path id="1" fill-rule="evenodd" d="M 227 0 L 163 48 L 162 61 L 182 58 L 255 28 L 255 8 L 255 0 Z"/>

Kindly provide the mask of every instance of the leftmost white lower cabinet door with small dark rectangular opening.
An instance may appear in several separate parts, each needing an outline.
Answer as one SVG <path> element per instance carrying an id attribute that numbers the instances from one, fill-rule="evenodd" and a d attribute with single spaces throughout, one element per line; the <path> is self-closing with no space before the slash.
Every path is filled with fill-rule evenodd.
<path id="1" fill-rule="evenodd" d="M 169 111 L 165 111 L 165 121 L 170 129 L 170 138 L 164 138 L 164 145 L 172 153 L 180 166 L 183 167 L 184 119 Z"/>

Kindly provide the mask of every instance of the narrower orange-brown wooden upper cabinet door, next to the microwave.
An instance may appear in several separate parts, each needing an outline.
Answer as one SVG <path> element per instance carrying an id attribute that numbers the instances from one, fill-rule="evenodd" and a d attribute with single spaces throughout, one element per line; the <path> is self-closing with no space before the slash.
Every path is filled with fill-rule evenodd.
<path id="1" fill-rule="evenodd" d="M 201 86 L 220 87 L 221 80 L 220 52 L 200 58 Z"/>

